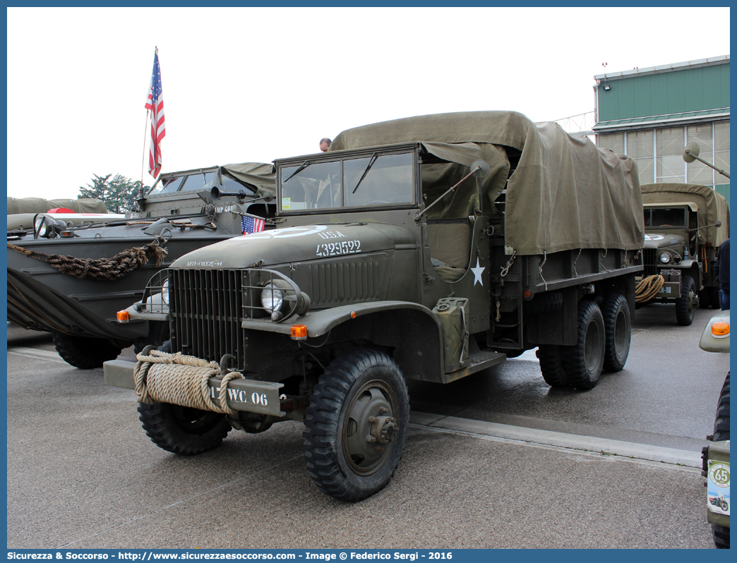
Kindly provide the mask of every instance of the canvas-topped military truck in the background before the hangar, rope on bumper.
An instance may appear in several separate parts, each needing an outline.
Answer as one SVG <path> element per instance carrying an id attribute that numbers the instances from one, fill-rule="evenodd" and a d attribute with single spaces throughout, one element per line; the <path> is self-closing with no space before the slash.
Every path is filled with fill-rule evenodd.
<path id="1" fill-rule="evenodd" d="M 693 183 L 641 186 L 645 212 L 645 270 L 640 304 L 675 304 L 680 325 L 694 322 L 696 307 L 719 308 L 714 273 L 719 245 L 730 236 L 724 196 Z"/>

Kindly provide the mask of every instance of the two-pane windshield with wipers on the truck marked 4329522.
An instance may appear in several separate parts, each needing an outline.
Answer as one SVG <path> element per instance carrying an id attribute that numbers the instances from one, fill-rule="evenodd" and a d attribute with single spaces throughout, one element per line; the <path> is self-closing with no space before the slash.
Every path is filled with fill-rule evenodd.
<path id="1" fill-rule="evenodd" d="M 281 209 L 335 209 L 414 203 L 414 153 L 282 167 Z"/>

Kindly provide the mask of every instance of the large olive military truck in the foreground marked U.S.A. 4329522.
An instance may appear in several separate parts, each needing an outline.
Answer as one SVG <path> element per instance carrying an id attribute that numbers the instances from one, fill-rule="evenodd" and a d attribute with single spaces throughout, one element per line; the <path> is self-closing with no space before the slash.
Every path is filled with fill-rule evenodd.
<path id="1" fill-rule="evenodd" d="M 159 447 L 304 422 L 318 488 L 356 501 L 405 444 L 405 379 L 450 383 L 539 347 L 589 389 L 629 352 L 643 211 L 632 160 L 514 112 L 346 130 L 276 163 L 273 231 L 181 256 L 128 309 L 171 341 L 105 363 Z"/>

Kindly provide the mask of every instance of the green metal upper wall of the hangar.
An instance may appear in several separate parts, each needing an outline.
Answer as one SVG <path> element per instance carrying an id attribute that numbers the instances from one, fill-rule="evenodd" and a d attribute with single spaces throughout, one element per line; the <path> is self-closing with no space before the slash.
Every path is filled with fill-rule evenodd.
<path id="1" fill-rule="evenodd" d="M 730 65 L 610 80 L 598 88 L 598 121 L 730 107 Z"/>

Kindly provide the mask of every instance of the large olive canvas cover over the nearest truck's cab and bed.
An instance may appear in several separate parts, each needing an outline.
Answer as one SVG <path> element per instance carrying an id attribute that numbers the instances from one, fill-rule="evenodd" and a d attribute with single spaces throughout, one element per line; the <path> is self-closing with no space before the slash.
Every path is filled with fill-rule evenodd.
<path id="1" fill-rule="evenodd" d="M 535 125 L 514 111 L 438 113 L 345 130 L 330 150 L 415 141 L 450 161 L 423 167 L 426 204 L 468 172 L 472 161 L 483 158 L 489 164 L 491 172 L 481 183 L 484 209 L 495 209 L 492 203 L 506 187 L 505 244 L 517 254 L 642 246 L 635 163 L 572 137 L 555 123 Z M 464 182 L 428 217 L 464 217 L 475 189 L 474 181 Z"/>

